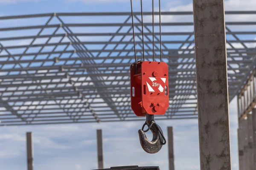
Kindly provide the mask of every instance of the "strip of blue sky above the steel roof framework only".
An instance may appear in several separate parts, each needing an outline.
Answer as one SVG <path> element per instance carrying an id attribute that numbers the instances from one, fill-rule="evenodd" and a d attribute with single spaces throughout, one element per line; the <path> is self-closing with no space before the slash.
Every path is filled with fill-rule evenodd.
<path id="1" fill-rule="evenodd" d="M 143 9 L 151 9 L 151 0 L 143 1 Z M 156 4 L 157 1 L 155 0 Z M 134 11 L 140 0 L 133 0 Z M 19 15 L 51 12 L 130 11 L 130 0 L 0 0 L 0 15 Z M 253 10 L 254 0 L 225 0 L 226 10 Z M 190 11 L 192 0 L 161 0 L 163 11 Z"/>

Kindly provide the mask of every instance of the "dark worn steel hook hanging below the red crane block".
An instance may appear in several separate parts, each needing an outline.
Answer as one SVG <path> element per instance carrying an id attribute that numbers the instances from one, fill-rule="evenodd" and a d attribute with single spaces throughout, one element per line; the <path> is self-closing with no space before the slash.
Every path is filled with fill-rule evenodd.
<path id="1" fill-rule="evenodd" d="M 161 150 L 163 144 L 166 144 L 166 139 L 163 136 L 163 131 L 160 126 L 158 126 L 154 120 L 151 121 L 151 124 L 148 125 L 147 130 L 143 130 L 146 125 L 143 125 L 142 129 L 138 131 L 139 138 L 140 138 L 140 144 L 143 150 L 147 153 L 157 153 Z M 153 139 L 151 141 L 148 140 L 145 132 L 148 130 L 151 130 L 153 133 Z"/>

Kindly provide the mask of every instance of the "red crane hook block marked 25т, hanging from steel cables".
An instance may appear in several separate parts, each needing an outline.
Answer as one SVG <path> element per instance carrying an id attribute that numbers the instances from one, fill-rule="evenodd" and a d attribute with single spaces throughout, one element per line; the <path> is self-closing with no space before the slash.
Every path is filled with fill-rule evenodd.
<path id="1" fill-rule="evenodd" d="M 168 65 L 139 61 L 130 67 L 131 108 L 137 116 L 163 115 L 169 108 Z"/>

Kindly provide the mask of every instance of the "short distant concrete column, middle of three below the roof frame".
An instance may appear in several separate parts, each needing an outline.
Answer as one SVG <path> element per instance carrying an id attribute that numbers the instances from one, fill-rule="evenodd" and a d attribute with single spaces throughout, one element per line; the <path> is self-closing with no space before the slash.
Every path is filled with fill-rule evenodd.
<path id="1" fill-rule="evenodd" d="M 98 168 L 103 169 L 102 130 L 97 130 Z"/>

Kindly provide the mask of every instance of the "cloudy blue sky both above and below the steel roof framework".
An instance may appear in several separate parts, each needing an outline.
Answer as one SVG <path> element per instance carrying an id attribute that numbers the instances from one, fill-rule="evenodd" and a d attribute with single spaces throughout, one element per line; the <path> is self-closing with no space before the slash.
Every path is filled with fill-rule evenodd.
<path id="1" fill-rule="evenodd" d="M 134 0 L 138 11 L 139 0 Z M 144 0 L 144 10 L 151 1 Z M 192 0 L 161 0 L 163 11 L 191 11 Z M 254 10 L 255 0 L 226 0 L 227 10 Z M 0 0 L 0 15 L 20 15 L 52 12 L 130 11 L 129 0 Z M 244 19 L 252 19 L 247 16 Z M 236 18 L 237 19 L 237 18 Z M 230 136 L 233 170 L 238 170 L 236 98 L 230 103 Z M 176 170 L 199 170 L 197 120 L 157 122 L 166 134 L 174 128 Z M 35 170 L 90 170 L 97 168 L 96 129 L 103 129 L 105 167 L 119 165 L 160 166 L 168 169 L 167 145 L 154 155 L 145 153 L 137 130 L 143 122 L 105 124 L 41 125 L 0 128 L 0 169 L 26 169 L 27 131 L 33 132 Z M 186 163 L 184 163 L 186 162 Z"/>

